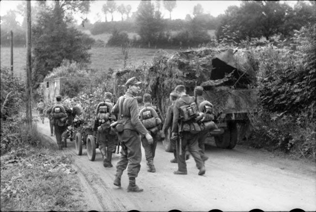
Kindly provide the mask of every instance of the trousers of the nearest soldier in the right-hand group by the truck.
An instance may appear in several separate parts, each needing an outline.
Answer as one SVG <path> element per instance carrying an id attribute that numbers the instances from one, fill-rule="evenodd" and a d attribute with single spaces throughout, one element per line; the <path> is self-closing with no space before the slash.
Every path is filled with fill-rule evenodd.
<path id="1" fill-rule="evenodd" d="M 192 134 L 190 132 L 183 132 L 182 133 L 182 146 L 180 147 L 180 141 L 179 139 L 176 141 L 176 154 L 177 154 L 177 162 L 178 162 L 178 170 L 186 172 L 187 171 L 187 163 L 186 163 L 186 147 L 188 147 L 188 151 L 191 153 L 195 163 L 196 167 L 198 169 L 202 168 L 204 166 L 204 163 L 201 159 L 201 155 L 199 152 L 199 146 L 198 146 L 198 136 L 196 134 Z M 182 154 L 180 155 L 179 150 L 181 148 Z"/>

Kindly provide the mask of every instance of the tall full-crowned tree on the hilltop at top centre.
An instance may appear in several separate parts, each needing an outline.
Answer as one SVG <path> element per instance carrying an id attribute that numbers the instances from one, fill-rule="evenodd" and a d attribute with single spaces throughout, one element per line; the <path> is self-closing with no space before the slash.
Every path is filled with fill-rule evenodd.
<path id="1" fill-rule="evenodd" d="M 159 33 L 163 31 L 160 12 L 156 11 L 150 1 L 141 1 L 136 12 L 137 33 L 144 43 L 151 44 L 158 40 Z"/>

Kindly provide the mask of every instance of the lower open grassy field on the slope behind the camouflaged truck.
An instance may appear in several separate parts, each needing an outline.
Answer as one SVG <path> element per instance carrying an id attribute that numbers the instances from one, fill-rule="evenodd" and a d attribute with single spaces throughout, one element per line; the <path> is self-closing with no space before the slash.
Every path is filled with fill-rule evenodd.
<path id="1" fill-rule="evenodd" d="M 13 72 L 20 79 L 26 78 L 26 48 L 13 48 Z M 154 54 L 159 49 L 139 49 L 131 48 L 129 50 L 127 65 L 138 66 L 143 63 L 151 63 Z M 168 53 L 173 53 L 174 49 L 164 49 Z M 10 68 L 10 47 L 1 47 L 0 49 L 1 66 Z M 98 70 L 108 70 L 109 68 L 122 68 L 124 57 L 122 49 L 118 47 L 92 48 L 90 50 L 91 64 L 89 68 Z"/>

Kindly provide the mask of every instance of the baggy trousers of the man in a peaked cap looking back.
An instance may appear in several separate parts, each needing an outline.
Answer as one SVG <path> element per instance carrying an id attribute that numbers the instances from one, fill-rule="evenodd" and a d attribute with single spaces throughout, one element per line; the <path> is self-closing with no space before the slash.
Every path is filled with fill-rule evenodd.
<path id="1" fill-rule="evenodd" d="M 135 130 L 125 129 L 118 133 L 118 139 L 122 150 L 119 161 L 116 163 L 116 169 L 123 172 L 127 167 L 128 177 L 136 178 L 141 170 L 141 136 Z"/>

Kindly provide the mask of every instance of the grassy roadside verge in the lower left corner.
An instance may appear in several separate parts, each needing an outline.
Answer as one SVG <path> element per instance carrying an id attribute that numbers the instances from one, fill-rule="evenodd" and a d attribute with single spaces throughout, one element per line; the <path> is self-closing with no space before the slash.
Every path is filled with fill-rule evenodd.
<path id="1" fill-rule="evenodd" d="M 0 158 L 0 211 L 85 211 L 71 163 L 43 136 L 36 147 L 15 145 Z"/>

